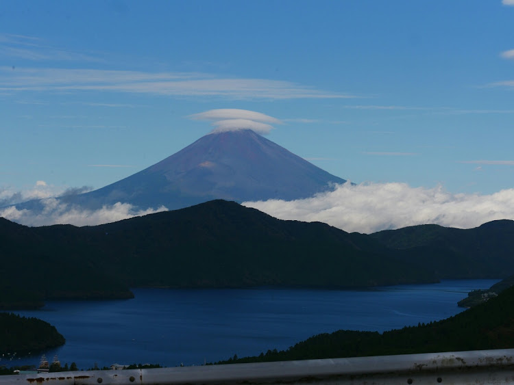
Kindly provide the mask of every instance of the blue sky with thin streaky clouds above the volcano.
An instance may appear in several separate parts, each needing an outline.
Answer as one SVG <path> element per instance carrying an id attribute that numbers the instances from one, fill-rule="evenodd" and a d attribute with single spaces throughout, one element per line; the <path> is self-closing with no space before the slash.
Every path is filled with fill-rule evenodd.
<path id="1" fill-rule="evenodd" d="M 1 1 L 0 198 L 99 188 L 247 109 L 354 183 L 514 181 L 514 1 Z M 45 195 L 46 194 L 46 195 Z"/>

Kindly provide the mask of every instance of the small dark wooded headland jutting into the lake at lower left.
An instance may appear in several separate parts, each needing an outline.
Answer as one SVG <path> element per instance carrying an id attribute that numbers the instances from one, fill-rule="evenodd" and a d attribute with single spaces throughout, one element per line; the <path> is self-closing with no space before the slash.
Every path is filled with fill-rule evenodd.
<path id="1" fill-rule="evenodd" d="M 64 337 L 48 322 L 0 313 L 0 354 L 37 352 L 64 344 Z"/>

